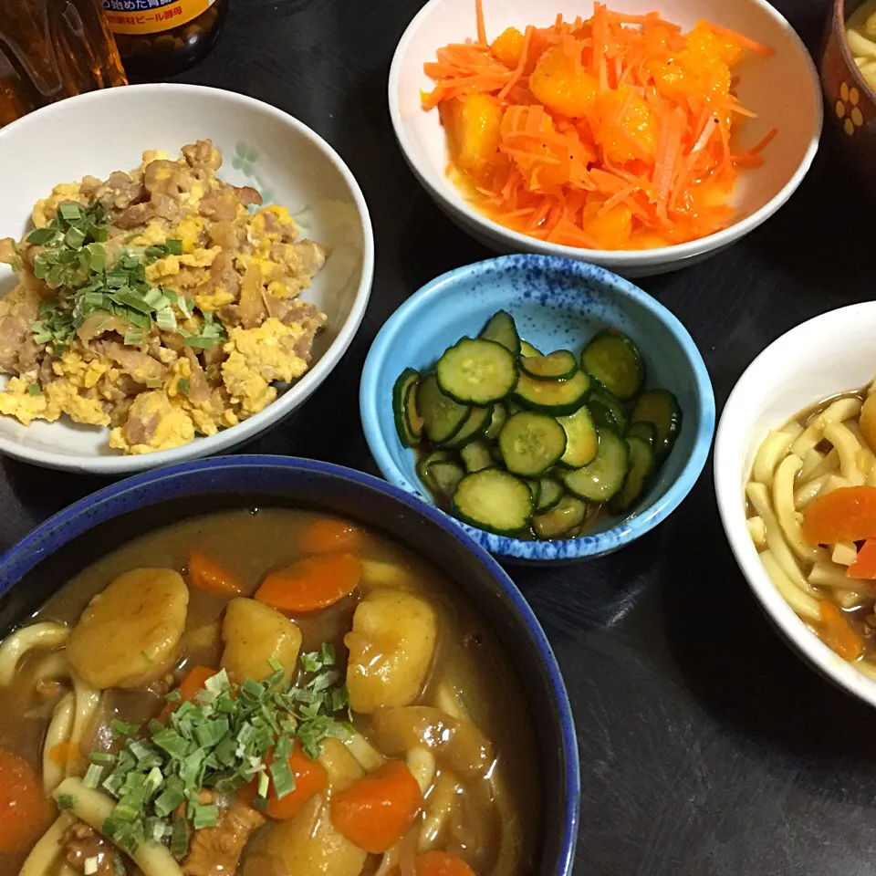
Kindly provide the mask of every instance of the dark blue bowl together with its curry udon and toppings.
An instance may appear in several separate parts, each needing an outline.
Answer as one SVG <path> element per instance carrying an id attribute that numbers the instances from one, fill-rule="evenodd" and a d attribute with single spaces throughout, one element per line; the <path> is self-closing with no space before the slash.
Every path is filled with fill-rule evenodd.
<path id="1" fill-rule="evenodd" d="M 338 527 L 338 518 L 353 528 Z M 196 559 L 195 552 L 202 557 Z M 210 558 L 206 565 L 203 557 Z M 280 582 L 283 592 L 296 592 L 296 600 L 304 601 L 292 604 L 287 597 L 278 600 L 279 591 L 268 594 L 271 579 L 276 584 L 277 576 L 296 568 L 300 583 L 303 570 L 313 571 L 320 563 L 334 570 L 329 575 L 323 566 L 323 585 L 330 581 L 334 586 L 351 561 L 359 564 L 355 589 L 341 587 L 331 599 L 323 594 L 314 600 L 315 591 L 307 587 L 290 590 L 287 578 Z M 136 572 L 136 567 L 163 568 Z M 309 580 L 312 584 L 312 576 Z M 102 594 L 99 600 L 89 602 L 96 593 Z M 221 599 L 219 594 L 224 594 Z M 174 620 L 174 605 L 181 599 L 183 616 Z M 327 607 L 331 600 L 338 601 Z M 246 615 L 265 618 L 265 612 L 273 618 L 270 629 L 246 620 Z M 140 801 L 133 817 L 135 825 L 148 826 L 147 836 L 165 834 L 159 845 L 135 834 L 131 854 L 144 876 L 181 872 L 173 855 L 180 860 L 183 852 L 165 848 L 174 848 L 167 835 L 174 829 L 171 816 L 165 811 L 164 828 L 155 827 L 161 818 L 152 818 L 176 777 L 193 794 L 198 786 L 202 795 L 204 788 L 211 789 L 183 806 L 189 807 L 185 816 L 177 809 L 172 817 L 174 825 L 183 823 L 183 833 L 183 819 L 191 819 L 189 833 L 201 819 L 186 860 L 210 847 L 216 839 L 209 838 L 211 829 L 221 834 L 229 825 L 245 828 L 237 858 L 220 856 L 217 869 L 214 857 L 198 872 L 397 876 L 399 867 L 402 872 L 419 868 L 414 855 L 426 854 L 423 849 L 429 846 L 434 847 L 428 852 L 433 864 L 455 853 L 474 865 L 477 876 L 571 872 L 578 750 L 568 696 L 545 634 L 514 583 L 482 548 L 440 512 L 391 485 L 331 464 L 270 456 L 194 462 L 132 477 L 52 517 L 0 558 L 0 629 L 8 635 L 33 620 L 45 621 L 41 629 L 47 631 L 43 644 L 48 651 L 28 651 L 27 636 L 16 633 L 0 645 L 0 709 L 6 714 L 0 760 L 8 761 L 5 749 L 11 749 L 29 761 L 31 766 L 23 769 L 32 771 L 35 784 L 39 776 L 47 791 L 54 788 L 65 832 L 58 832 L 56 821 L 56 833 L 42 834 L 21 872 L 54 873 L 57 866 L 53 869 L 51 861 L 60 850 L 78 854 L 80 862 L 89 855 L 86 872 L 96 863 L 109 867 L 107 856 L 121 857 L 117 849 L 129 829 L 120 827 L 118 819 L 105 818 L 100 806 L 111 809 L 118 800 L 112 811 L 120 815 L 124 808 L 126 791 L 112 784 L 114 777 L 137 785 L 122 768 L 126 753 L 132 758 L 128 768 L 134 769 L 130 764 L 136 760 L 136 768 L 152 776 L 145 780 L 154 779 L 162 788 L 145 804 Z M 71 631 L 58 632 L 61 622 Z M 170 647 L 173 623 L 179 623 L 181 638 Z M 296 626 L 297 631 L 289 631 Z M 156 629 L 163 631 L 159 641 L 153 641 Z M 30 636 L 33 644 L 33 631 Z M 338 646 L 337 665 L 321 642 Z M 220 650 L 223 673 L 215 675 Z M 187 655 L 183 662 L 181 652 Z M 422 653 L 432 656 L 422 662 Z M 58 662 L 63 664 L 59 669 Z M 346 686 L 340 687 L 344 679 Z M 60 690 L 53 686 L 58 681 Z M 193 694 L 203 687 L 206 691 Z M 41 696 L 47 702 L 31 712 Z M 316 717 L 301 703 L 316 709 Z M 53 753 L 65 704 L 75 717 L 68 714 L 67 735 L 61 727 L 67 747 L 58 760 Z M 273 715 L 273 731 L 264 729 L 263 707 Z M 21 717 L 25 713 L 29 719 Z M 162 723 L 144 723 L 155 714 Z M 337 724 L 339 715 L 347 714 L 355 723 L 352 736 L 350 728 Z M 141 730 L 110 723 L 113 715 Z M 229 715 L 236 735 L 222 732 L 234 744 L 217 741 L 213 730 L 205 729 L 221 722 L 222 715 Z M 245 730 L 247 725 L 255 731 Z M 174 737 L 165 749 L 164 736 L 171 731 L 181 738 Z M 268 733 L 262 739 L 264 763 L 257 756 L 250 759 L 251 746 L 258 744 L 256 731 Z M 419 744 L 411 734 L 420 734 Z M 320 739 L 321 755 L 318 747 L 308 754 L 308 746 L 318 746 Z M 275 772 L 276 752 L 287 744 L 294 745 L 289 749 L 296 778 L 291 789 L 282 770 Z M 191 748 L 188 754 L 174 749 L 185 745 Z M 183 764 L 190 756 L 203 756 L 198 753 L 203 746 L 211 754 L 193 780 Z M 140 767 L 147 749 L 158 764 L 157 774 L 150 772 L 152 761 Z M 162 755 L 172 749 L 175 754 Z M 96 750 L 110 755 L 95 756 Z M 89 770 L 100 773 L 90 781 L 83 759 L 88 757 L 93 761 Z M 305 766 L 295 766 L 296 758 L 303 758 Z M 110 769 L 103 766 L 110 760 L 114 766 L 108 777 L 101 770 Z M 245 787 L 222 772 L 231 762 L 247 778 L 256 770 Z M 266 766 L 264 775 L 271 777 L 262 787 L 257 770 Z M 3 767 L 0 763 L 0 773 Z M 393 771 L 404 775 L 407 786 L 393 784 Z M 398 775 L 395 779 L 401 781 Z M 321 784 L 311 787 L 311 780 Z M 407 815 L 401 821 L 393 821 L 394 816 L 388 822 L 374 820 L 371 810 L 358 808 L 362 793 L 366 798 L 376 793 L 371 801 L 389 799 L 396 807 L 392 811 Z M 405 808 L 405 795 L 411 793 L 417 802 Z M 179 798 L 171 797 L 175 807 Z M 212 809 L 215 803 L 218 810 Z M 288 809 L 293 803 L 295 808 Z M 231 808 L 224 809 L 226 804 Z M 6 816 L 15 822 L 15 813 Z M 83 828 L 84 836 L 71 834 L 70 822 L 78 827 L 85 822 L 98 833 Z M 0 842 L 7 842 L 8 832 L 0 826 Z M 111 842 L 101 839 L 106 833 Z M 221 845 L 224 840 L 219 840 Z M 94 841 L 98 844 L 89 847 Z M 90 850 L 83 851 L 83 843 Z M 0 874 L 19 872 L 32 845 L 19 848 L 17 856 L 0 854 Z M 184 866 L 183 871 L 194 872 Z"/>

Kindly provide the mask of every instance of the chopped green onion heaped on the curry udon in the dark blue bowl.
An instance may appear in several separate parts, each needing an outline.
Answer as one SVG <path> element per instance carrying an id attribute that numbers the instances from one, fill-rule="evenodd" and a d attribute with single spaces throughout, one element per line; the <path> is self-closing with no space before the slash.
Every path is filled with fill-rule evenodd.
<path id="1" fill-rule="evenodd" d="M 327 736 L 352 732 L 347 689 L 330 645 L 301 655 L 306 680 L 300 683 L 283 684 L 282 666 L 271 665 L 274 673 L 263 682 L 237 684 L 224 670 L 216 673 L 166 724 L 113 720 L 124 745 L 117 754 L 92 752 L 83 781 L 118 801 L 103 832 L 120 848 L 133 854 L 143 842 L 167 840 L 182 860 L 191 831 L 219 819 L 215 803 L 199 799 L 202 789 L 234 793 L 255 779 L 255 806 L 265 808 L 271 788 L 277 798 L 295 790 L 288 760 L 296 741 L 316 758 Z M 180 692 L 165 699 L 178 703 Z"/>

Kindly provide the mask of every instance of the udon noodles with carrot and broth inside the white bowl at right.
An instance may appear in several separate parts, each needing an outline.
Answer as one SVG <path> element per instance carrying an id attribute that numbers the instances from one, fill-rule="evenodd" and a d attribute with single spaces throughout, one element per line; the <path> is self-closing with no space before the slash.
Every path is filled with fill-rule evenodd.
<path id="1" fill-rule="evenodd" d="M 876 679 L 876 382 L 767 434 L 747 522 L 776 588 L 834 652 Z"/>

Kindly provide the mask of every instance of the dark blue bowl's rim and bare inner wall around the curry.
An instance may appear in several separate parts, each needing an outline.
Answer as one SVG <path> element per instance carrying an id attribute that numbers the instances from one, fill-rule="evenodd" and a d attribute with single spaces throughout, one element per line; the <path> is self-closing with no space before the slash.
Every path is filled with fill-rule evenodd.
<path id="1" fill-rule="evenodd" d="M 443 514 L 369 474 L 280 456 L 172 465 L 89 495 L 0 558 L 0 634 L 26 620 L 95 558 L 152 528 L 235 507 L 325 510 L 382 530 L 433 563 L 493 626 L 527 697 L 542 786 L 537 876 L 570 876 L 579 817 L 578 745 L 571 706 L 544 631 L 514 582 Z M 513 646 L 512 646 L 513 643 Z"/>

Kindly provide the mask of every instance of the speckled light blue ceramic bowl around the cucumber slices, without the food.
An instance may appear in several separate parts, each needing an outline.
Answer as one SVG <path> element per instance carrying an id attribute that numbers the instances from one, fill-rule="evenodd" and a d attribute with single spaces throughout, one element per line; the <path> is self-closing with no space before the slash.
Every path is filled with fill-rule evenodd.
<path id="1" fill-rule="evenodd" d="M 620 276 L 550 255 L 503 255 L 460 267 L 427 283 L 392 314 L 374 340 L 360 386 L 365 437 L 392 484 L 432 503 L 392 418 L 392 384 L 406 367 L 428 370 L 463 335 L 475 335 L 506 309 L 521 336 L 545 352 L 579 351 L 600 328 L 614 326 L 640 347 L 648 386 L 672 391 L 683 412 L 673 452 L 630 516 L 605 517 L 586 536 L 526 541 L 495 536 L 454 520 L 496 557 L 554 564 L 600 557 L 665 520 L 703 471 L 714 433 L 714 395 L 699 350 L 672 313 Z M 453 518 L 452 518 L 453 519 Z"/>

